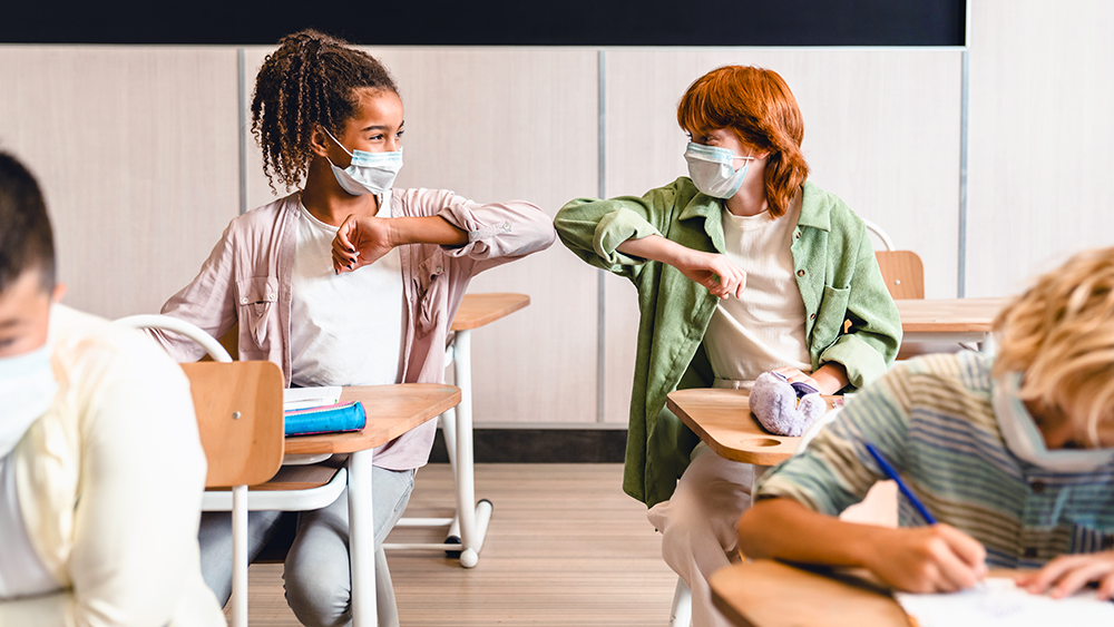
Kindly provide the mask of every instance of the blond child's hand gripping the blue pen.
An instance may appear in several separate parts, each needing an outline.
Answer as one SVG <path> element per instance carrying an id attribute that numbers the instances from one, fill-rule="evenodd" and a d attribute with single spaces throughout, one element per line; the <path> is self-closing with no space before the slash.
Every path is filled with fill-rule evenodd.
<path id="1" fill-rule="evenodd" d="M 986 577 L 986 549 L 949 525 L 879 530 L 863 566 L 895 588 L 955 592 Z"/>

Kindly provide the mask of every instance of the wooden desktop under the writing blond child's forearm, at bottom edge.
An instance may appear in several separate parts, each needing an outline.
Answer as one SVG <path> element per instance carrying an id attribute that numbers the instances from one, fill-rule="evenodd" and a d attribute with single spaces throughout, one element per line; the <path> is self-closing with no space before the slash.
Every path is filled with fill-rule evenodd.
<path id="1" fill-rule="evenodd" d="M 886 589 L 849 576 L 827 576 L 758 559 L 712 574 L 712 601 L 746 627 L 909 627 Z"/>

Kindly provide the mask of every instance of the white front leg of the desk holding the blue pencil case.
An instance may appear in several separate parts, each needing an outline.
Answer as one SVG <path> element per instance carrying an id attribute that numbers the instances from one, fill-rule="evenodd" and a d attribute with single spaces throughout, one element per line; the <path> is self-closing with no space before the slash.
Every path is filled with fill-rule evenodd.
<path id="1" fill-rule="evenodd" d="M 371 492 L 372 450 L 349 458 L 349 565 L 352 571 L 352 626 L 375 627 L 375 533 Z"/>

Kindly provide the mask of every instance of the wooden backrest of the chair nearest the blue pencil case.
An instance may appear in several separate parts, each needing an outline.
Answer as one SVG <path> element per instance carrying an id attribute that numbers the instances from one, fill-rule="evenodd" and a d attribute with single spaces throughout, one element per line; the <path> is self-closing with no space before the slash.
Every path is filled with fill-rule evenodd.
<path id="1" fill-rule="evenodd" d="M 184 363 L 208 459 L 206 488 L 255 486 L 282 466 L 282 371 L 266 361 Z"/>

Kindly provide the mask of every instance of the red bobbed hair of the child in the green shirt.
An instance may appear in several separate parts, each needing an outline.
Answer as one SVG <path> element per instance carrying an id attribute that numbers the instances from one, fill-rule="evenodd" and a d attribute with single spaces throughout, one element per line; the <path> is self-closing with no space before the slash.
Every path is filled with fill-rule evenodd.
<path id="1" fill-rule="evenodd" d="M 724 66 L 697 78 L 681 97 L 677 124 L 693 137 L 730 128 L 743 145 L 768 153 L 765 194 L 774 217 L 785 214 L 809 177 L 801 109 L 773 70 Z"/>

